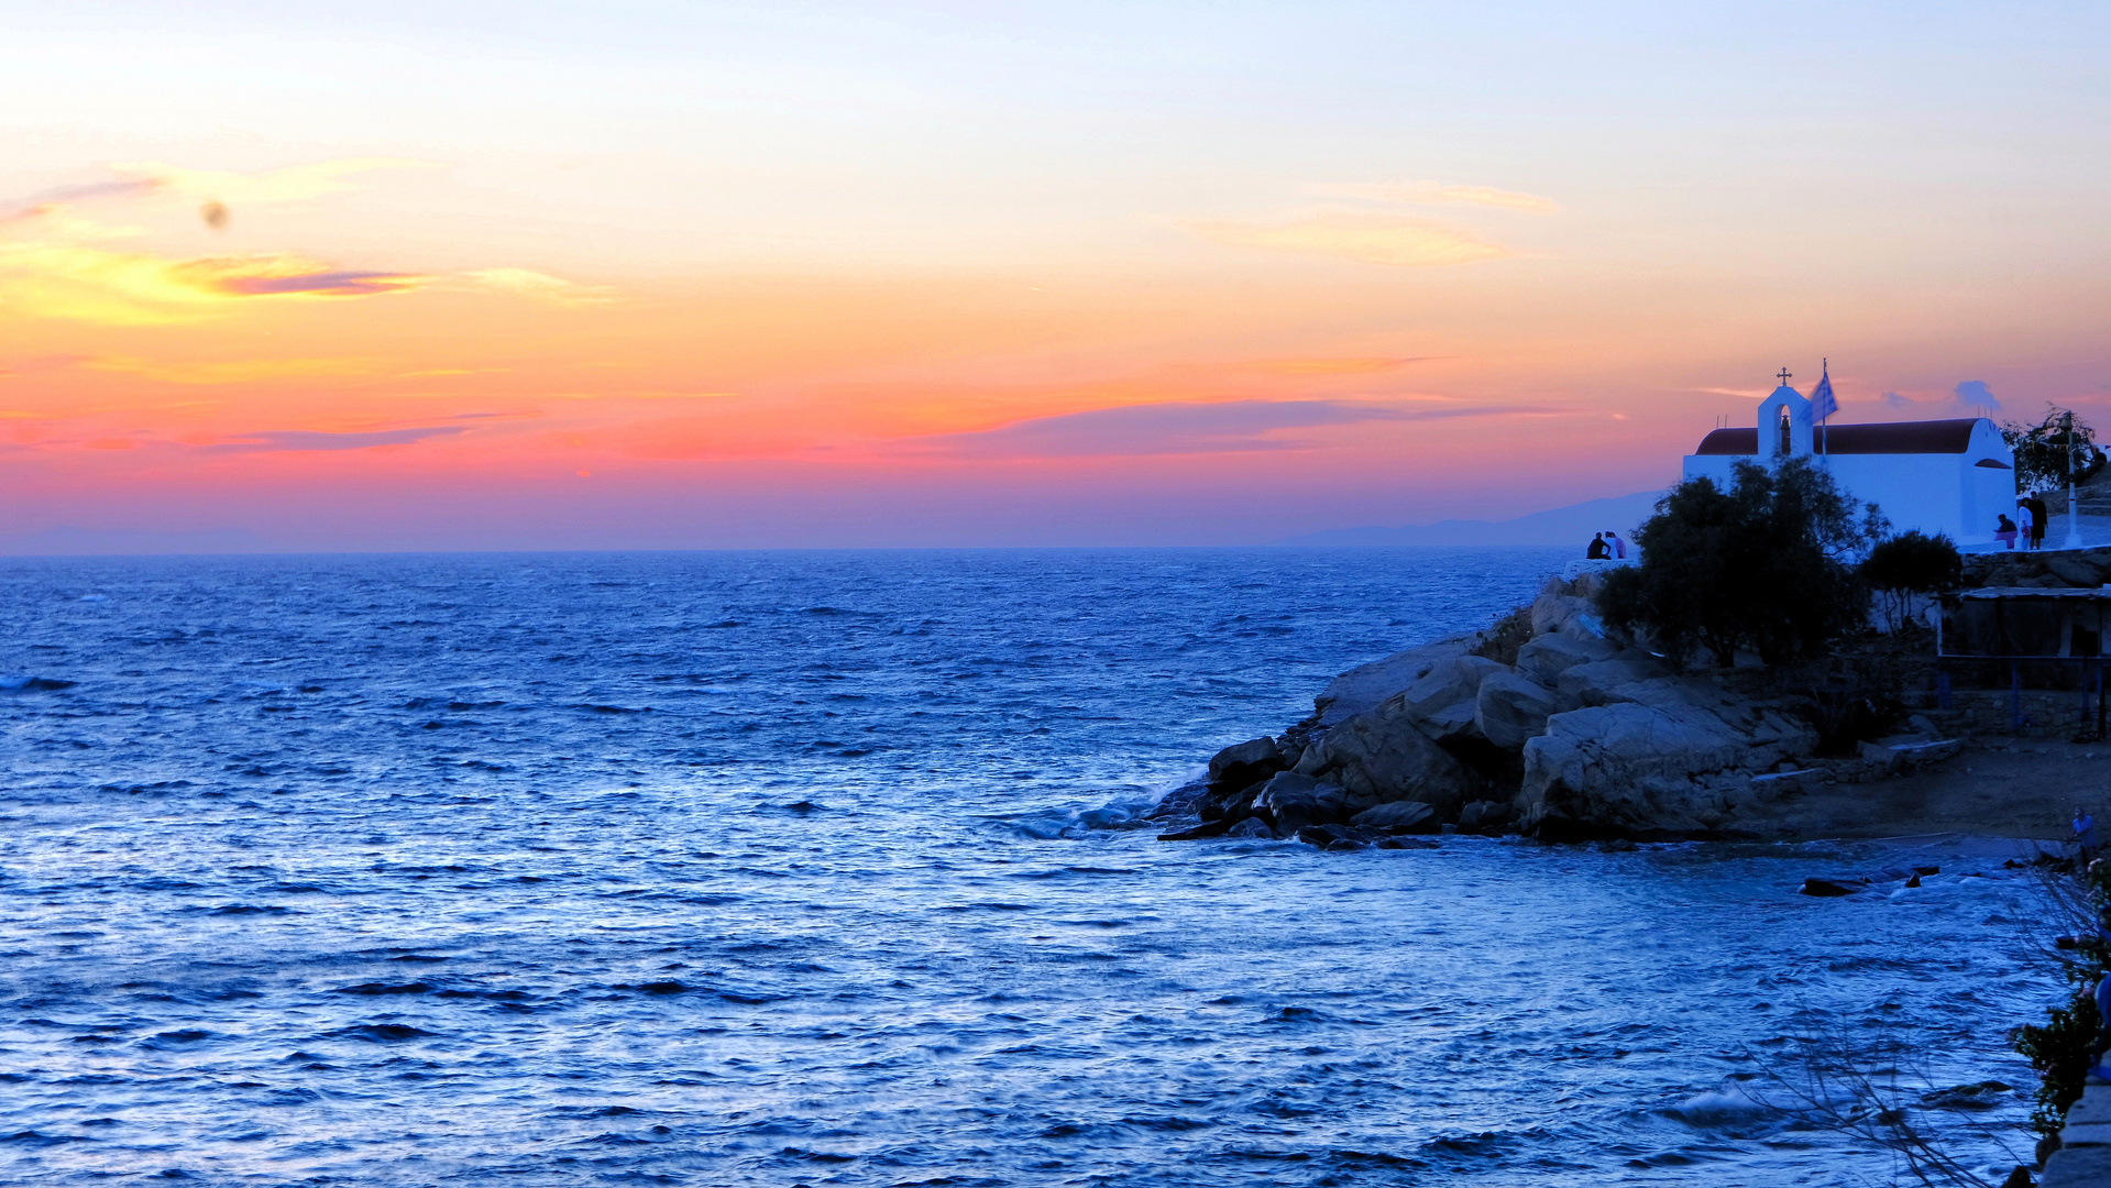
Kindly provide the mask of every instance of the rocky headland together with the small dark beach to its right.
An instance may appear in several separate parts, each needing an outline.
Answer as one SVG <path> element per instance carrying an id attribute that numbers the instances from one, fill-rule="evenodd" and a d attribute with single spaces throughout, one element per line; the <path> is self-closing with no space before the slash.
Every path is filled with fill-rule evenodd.
<path id="1" fill-rule="evenodd" d="M 1970 585 L 2105 580 L 2111 549 L 1967 561 Z M 2056 838 L 2075 802 L 2103 798 L 2094 760 L 2111 747 L 1978 736 L 1932 707 L 1881 739 L 1843 739 L 1824 673 L 1680 671 L 1609 639 L 1592 593 L 1590 574 L 1552 578 L 1488 629 L 1338 675 L 1311 717 L 1218 751 L 1207 779 L 1167 796 L 1163 838 Z M 1904 648 L 1923 650 L 1932 665 L 1932 646 Z"/>

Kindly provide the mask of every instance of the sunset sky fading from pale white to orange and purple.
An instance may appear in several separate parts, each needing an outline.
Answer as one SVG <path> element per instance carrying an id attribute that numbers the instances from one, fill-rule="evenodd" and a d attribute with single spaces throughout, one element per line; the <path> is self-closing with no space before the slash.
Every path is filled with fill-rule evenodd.
<path id="1" fill-rule="evenodd" d="M 2103 4 L 0 25 L 4 553 L 1505 519 L 1782 367 L 2111 433 Z"/>

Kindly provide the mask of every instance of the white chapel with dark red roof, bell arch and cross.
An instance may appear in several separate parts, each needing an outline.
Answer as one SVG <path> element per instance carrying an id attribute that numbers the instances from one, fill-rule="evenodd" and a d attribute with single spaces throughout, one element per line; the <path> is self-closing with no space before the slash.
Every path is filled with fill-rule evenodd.
<path id="1" fill-rule="evenodd" d="M 1830 397 L 1830 382 L 1824 384 Z M 1946 532 L 1957 544 L 1991 544 L 1999 515 L 2016 515 L 2016 454 L 1982 416 L 1889 424 L 1818 424 L 1811 401 L 1782 386 L 1758 403 L 1756 428 L 1718 428 L 1687 454 L 1687 479 L 1723 490 L 1731 466 L 1813 458 L 1845 494 L 1875 502 L 1896 532 Z"/>

